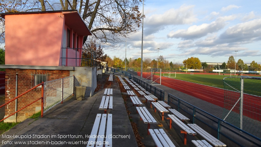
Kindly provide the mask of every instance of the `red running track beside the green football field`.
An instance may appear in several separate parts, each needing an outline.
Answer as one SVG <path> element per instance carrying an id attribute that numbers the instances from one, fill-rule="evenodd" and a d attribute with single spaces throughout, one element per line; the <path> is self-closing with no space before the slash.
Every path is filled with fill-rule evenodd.
<path id="1" fill-rule="evenodd" d="M 142 77 L 149 77 L 151 73 L 143 72 Z M 140 72 L 138 72 L 140 76 Z M 153 76 L 153 81 L 160 83 L 158 75 Z M 150 77 L 151 78 L 151 77 Z M 168 77 L 161 77 L 161 84 L 169 88 L 175 89 L 177 91 L 186 93 L 188 95 L 194 96 L 206 102 L 210 102 L 219 107 L 224 107 L 224 89 L 196 84 L 192 82 L 186 82 L 178 79 L 172 79 Z M 255 99 L 255 101 L 253 101 Z M 252 101 L 253 103 L 249 103 Z M 243 115 L 253 118 L 255 120 L 261 121 L 261 100 L 253 96 L 244 96 L 244 111 Z M 247 108 L 247 109 L 246 109 Z M 228 108 L 230 109 L 230 108 Z"/>

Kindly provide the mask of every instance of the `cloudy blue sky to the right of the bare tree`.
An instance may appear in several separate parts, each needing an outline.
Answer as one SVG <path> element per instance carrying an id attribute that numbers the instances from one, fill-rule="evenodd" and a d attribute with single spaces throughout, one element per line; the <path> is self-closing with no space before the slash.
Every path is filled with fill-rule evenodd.
<path id="1" fill-rule="evenodd" d="M 159 54 L 175 63 L 192 56 L 223 63 L 236 56 L 261 64 L 260 0 L 147 0 L 144 15 L 143 59 Z M 103 50 L 124 60 L 126 47 L 127 59 L 141 57 L 142 28 L 126 43 Z"/>

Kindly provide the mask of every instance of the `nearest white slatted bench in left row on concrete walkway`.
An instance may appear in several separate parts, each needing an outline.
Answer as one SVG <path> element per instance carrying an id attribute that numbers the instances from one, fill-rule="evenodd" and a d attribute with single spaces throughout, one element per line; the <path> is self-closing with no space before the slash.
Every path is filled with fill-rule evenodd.
<path id="1" fill-rule="evenodd" d="M 107 119 L 107 121 L 106 121 Z M 106 134 L 105 134 L 105 130 L 106 130 Z M 97 114 L 93 127 L 92 127 L 92 132 L 91 132 L 91 136 L 97 136 L 97 137 L 90 137 L 88 140 L 88 144 L 87 146 L 89 147 L 94 147 L 96 146 L 103 146 L 103 142 L 104 142 L 104 137 L 103 136 L 109 136 L 112 134 L 112 114 Z M 110 147 L 112 146 L 112 138 L 110 137 L 106 137 L 105 139 L 106 143 L 108 144 L 104 144 L 105 147 Z M 101 144 L 94 144 L 94 142 L 99 142 Z"/>

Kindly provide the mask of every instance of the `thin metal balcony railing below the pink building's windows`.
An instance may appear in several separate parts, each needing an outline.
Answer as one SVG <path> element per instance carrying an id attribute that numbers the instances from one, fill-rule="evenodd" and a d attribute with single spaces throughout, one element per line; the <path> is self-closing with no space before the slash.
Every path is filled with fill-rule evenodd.
<path id="1" fill-rule="evenodd" d="M 82 51 L 81 55 L 79 51 Z M 67 52 L 71 52 L 67 55 Z M 80 58 L 81 56 L 81 58 Z M 67 61 L 75 62 L 74 66 L 96 66 L 96 52 L 93 49 L 81 49 L 81 48 L 62 48 L 62 65 L 66 66 Z M 79 63 L 81 61 L 81 63 Z"/>

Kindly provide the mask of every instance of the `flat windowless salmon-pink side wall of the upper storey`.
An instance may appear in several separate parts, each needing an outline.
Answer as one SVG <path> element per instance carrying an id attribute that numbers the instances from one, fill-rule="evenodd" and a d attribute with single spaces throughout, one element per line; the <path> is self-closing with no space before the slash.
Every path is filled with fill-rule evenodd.
<path id="1" fill-rule="evenodd" d="M 6 15 L 5 21 L 6 65 L 59 65 L 64 15 Z"/>

